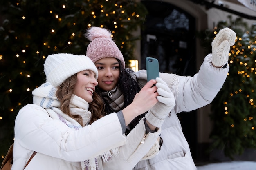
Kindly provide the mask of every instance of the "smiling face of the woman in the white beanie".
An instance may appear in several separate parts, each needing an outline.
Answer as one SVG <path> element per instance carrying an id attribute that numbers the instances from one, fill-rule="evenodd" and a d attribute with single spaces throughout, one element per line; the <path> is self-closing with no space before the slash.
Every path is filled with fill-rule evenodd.
<path id="1" fill-rule="evenodd" d="M 78 72 L 76 77 L 75 95 L 81 97 L 88 103 L 92 102 L 92 93 L 95 91 L 95 86 L 98 85 L 95 79 L 95 73 L 91 70 L 84 70 Z"/>

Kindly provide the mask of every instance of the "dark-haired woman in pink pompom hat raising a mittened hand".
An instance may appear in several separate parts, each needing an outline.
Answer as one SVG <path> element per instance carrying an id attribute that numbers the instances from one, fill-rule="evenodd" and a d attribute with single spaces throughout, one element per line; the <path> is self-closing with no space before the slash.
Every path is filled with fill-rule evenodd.
<path id="1" fill-rule="evenodd" d="M 99 72 L 96 92 L 105 103 L 106 113 L 118 112 L 129 105 L 135 94 L 146 84 L 146 70 L 134 72 L 125 68 L 124 57 L 112 40 L 109 30 L 91 27 L 86 30 L 85 37 L 91 41 L 86 55 L 94 62 Z M 212 42 L 212 54 L 205 57 L 199 72 L 193 77 L 160 73 L 160 78 L 156 80 L 167 83 L 168 89 L 175 97 L 175 106 L 170 112 L 166 109 L 168 102 L 157 102 L 148 113 L 136 117 L 126 127 L 126 135 L 140 119 L 145 121 L 145 126 L 150 127 L 146 128 L 146 133 L 154 132 L 154 127 L 162 127 L 163 142 L 159 154 L 152 159 L 138 159 L 139 162 L 133 170 L 196 170 L 177 113 L 203 107 L 217 95 L 229 71 L 229 50 L 235 39 L 236 33 L 231 29 L 220 30 Z M 116 167 L 121 167 L 122 161 L 117 161 L 115 166 L 109 162 L 105 164 L 108 164 L 108 169 L 115 170 L 118 169 Z"/>

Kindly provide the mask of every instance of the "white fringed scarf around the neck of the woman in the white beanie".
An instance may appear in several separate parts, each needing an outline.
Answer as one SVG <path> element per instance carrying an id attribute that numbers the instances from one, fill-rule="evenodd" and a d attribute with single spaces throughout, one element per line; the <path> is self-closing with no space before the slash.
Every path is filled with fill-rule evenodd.
<path id="1" fill-rule="evenodd" d="M 67 114 L 60 110 L 60 101 L 56 97 L 56 88 L 53 87 L 49 82 L 42 84 L 40 87 L 36 88 L 33 94 L 33 103 L 37 104 L 49 113 L 52 119 L 57 119 L 66 124 L 69 128 L 74 128 L 76 130 L 82 128 L 82 126 L 73 118 L 69 117 Z M 84 99 L 74 95 L 70 100 L 70 111 L 72 114 L 80 115 L 83 119 L 83 125 L 86 126 L 91 118 L 91 112 L 88 111 L 89 104 Z M 119 154 L 118 148 L 113 148 L 108 152 L 101 155 L 103 161 L 108 161 L 111 157 L 117 156 Z M 99 157 L 99 159 L 101 159 Z M 99 170 L 99 163 L 97 158 L 91 158 L 81 162 L 81 166 L 84 170 Z"/>

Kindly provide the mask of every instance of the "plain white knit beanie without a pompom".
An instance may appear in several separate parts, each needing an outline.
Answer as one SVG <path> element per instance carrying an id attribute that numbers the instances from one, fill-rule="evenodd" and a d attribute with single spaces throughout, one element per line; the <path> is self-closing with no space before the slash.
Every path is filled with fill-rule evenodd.
<path id="1" fill-rule="evenodd" d="M 59 86 L 70 76 L 83 71 L 91 70 L 98 78 L 98 71 L 92 60 L 85 55 L 52 54 L 48 55 L 44 63 L 46 81 L 54 87 Z"/>

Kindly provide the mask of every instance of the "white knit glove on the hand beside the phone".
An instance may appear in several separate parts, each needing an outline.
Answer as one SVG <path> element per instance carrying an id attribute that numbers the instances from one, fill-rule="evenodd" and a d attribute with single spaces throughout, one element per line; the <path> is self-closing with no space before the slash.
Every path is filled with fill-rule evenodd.
<path id="1" fill-rule="evenodd" d="M 153 106 L 148 113 L 146 113 L 146 119 L 155 127 L 159 128 L 164 123 L 164 119 L 171 112 L 175 106 L 175 98 L 170 88 L 161 78 L 156 78 L 157 83 L 157 96 L 158 102 Z"/>

